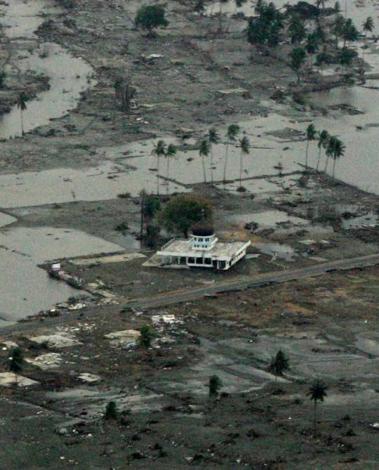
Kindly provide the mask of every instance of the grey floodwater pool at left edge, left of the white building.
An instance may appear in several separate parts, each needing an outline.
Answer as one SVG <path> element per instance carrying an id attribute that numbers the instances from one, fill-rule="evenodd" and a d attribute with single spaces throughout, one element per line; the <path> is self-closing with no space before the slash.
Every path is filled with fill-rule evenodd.
<path id="1" fill-rule="evenodd" d="M 52 280 L 37 265 L 70 256 L 119 252 L 122 247 L 78 230 L 4 228 L 0 231 L 0 320 L 15 321 L 83 294 Z"/>

